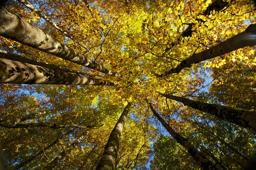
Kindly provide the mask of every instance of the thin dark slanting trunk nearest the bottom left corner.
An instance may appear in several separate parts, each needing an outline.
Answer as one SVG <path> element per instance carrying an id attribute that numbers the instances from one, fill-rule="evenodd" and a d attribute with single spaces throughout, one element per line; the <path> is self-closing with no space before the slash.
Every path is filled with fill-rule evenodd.
<path id="1" fill-rule="evenodd" d="M 66 132 L 63 136 L 65 135 L 68 135 L 72 132 L 73 130 L 70 130 L 68 132 Z M 60 138 L 62 138 L 63 136 L 61 136 Z M 42 150 L 38 151 L 37 153 L 25 158 L 22 162 L 12 166 L 12 167 L 9 167 L 8 170 L 18 170 L 20 169 L 21 167 L 25 166 L 27 163 L 33 161 L 34 159 L 37 158 L 37 156 L 39 156 L 40 154 L 44 153 L 47 149 L 51 148 L 53 145 L 55 145 L 60 138 L 57 138 L 55 141 L 53 141 L 51 144 L 49 144 L 48 146 L 44 147 Z"/>

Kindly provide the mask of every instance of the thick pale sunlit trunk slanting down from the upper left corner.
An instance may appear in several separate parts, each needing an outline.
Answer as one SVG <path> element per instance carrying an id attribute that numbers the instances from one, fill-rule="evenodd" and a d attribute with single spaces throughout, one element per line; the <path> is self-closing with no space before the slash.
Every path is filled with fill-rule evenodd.
<path id="1" fill-rule="evenodd" d="M 82 56 L 64 43 L 0 7 L 0 35 L 82 66 L 115 76 L 110 70 Z"/>

